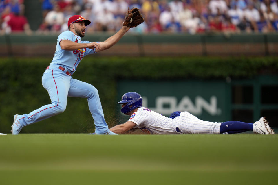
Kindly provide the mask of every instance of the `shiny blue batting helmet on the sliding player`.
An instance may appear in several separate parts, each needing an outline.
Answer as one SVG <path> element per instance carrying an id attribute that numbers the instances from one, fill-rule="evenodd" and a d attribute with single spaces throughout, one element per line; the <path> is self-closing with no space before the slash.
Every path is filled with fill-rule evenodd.
<path id="1" fill-rule="evenodd" d="M 126 114 L 127 112 L 137 108 L 142 107 L 143 98 L 136 92 L 127 92 L 122 96 L 122 101 L 118 102 L 119 104 L 127 103 L 122 109 L 121 112 Z"/>

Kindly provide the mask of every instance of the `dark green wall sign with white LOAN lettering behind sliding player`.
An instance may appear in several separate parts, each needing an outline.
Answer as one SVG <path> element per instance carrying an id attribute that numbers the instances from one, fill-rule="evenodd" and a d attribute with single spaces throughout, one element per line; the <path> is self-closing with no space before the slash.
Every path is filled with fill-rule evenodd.
<path id="1" fill-rule="evenodd" d="M 206 121 L 226 121 L 227 95 L 225 81 L 129 81 L 118 82 L 118 100 L 126 92 L 138 92 L 143 106 L 164 116 L 174 111 L 187 111 Z M 120 113 L 120 107 L 119 107 Z M 125 122 L 125 116 L 120 121 Z"/>

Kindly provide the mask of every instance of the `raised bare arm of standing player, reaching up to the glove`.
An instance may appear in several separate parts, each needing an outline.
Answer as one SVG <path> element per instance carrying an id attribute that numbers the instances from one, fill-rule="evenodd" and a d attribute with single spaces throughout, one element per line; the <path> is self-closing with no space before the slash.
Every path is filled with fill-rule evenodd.
<path id="1" fill-rule="evenodd" d="M 115 45 L 121 38 L 124 36 L 124 34 L 129 30 L 129 27 L 127 26 L 122 26 L 122 28 L 113 36 L 107 38 L 104 42 L 100 42 L 100 48 L 96 48 L 96 52 L 100 52 L 106 49 L 109 49 L 113 45 Z"/>

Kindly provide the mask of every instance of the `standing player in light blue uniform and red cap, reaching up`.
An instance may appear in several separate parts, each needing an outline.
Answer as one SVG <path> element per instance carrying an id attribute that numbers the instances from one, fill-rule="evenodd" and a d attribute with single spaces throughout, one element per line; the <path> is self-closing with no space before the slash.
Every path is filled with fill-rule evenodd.
<path id="1" fill-rule="evenodd" d="M 144 21 L 137 8 L 128 10 L 122 28 L 104 42 L 81 41 L 85 36 L 86 26 L 91 22 L 81 15 L 74 15 L 67 23 L 69 31 L 58 36 L 56 52 L 49 66 L 42 76 L 42 85 L 48 91 L 51 104 L 42 106 L 29 114 L 14 115 L 12 134 L 17 135 L 25 126 L 47 119 L 65 111 L 67 97 L 87 98 L 89 110 L 95 124 L 94 134 L 114 135 L 108 129 L 97 89 L 86 82 L 73 79 L 78 64 L 85 55 L 99 53 L 116 44 L 131 28 Z"/>

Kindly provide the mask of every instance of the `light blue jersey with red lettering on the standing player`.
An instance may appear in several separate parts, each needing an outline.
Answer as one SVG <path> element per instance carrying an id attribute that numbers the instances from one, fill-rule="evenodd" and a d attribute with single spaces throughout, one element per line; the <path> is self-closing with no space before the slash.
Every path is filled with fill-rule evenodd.
<path id="1" fill-rule="evenodd" d="M 70 40 L 77 43 L 91 43 L 89 41 L 81 41 L 80 36 L 74 35 L 71 31 L 65 31 L 58 36 L 56 52 L 50 65 L 60 65 L 66 68 L 71 74 L 85 55 L 96 53 L 95 49 L 82 48 L 75 51 L 66 51 L 61 49 L 60 42 L 62 40 Z M 99 43 L 99 42 L 97 42 Z"/>

